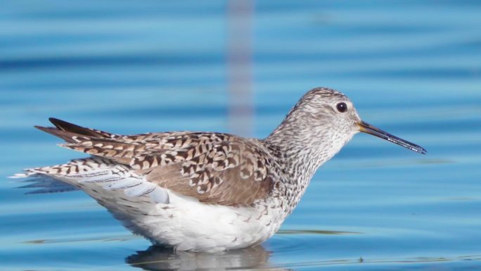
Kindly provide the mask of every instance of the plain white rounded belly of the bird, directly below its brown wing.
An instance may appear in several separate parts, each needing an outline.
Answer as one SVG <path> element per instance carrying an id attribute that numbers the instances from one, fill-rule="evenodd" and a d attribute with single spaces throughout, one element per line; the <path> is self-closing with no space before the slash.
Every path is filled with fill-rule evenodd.
<path id="1" fill-rule="evenodd" d="M 209 205 L 170 191 L 169 195 L 168 204 L 156 204 L 148 215 L 131 220 L 134 227 L 126 226 L 158 244 L 181 251 L 207 252 L 258 244 L 281 226 L 282 218 L 272 208 Z"/>

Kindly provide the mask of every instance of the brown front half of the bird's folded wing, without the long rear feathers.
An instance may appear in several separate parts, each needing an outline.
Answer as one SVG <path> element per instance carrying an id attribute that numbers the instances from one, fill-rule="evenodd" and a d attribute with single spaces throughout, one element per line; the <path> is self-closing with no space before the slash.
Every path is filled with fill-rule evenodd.
<path id="1" fill-rule="evenodd" d="M 191 142 L 137 156 L 132 167 L 146 171 L 150 182 L 205 203 L 249 206 L 271 192 L 272 160 L 261 146 L 226 134 L 181 137 Z"/>

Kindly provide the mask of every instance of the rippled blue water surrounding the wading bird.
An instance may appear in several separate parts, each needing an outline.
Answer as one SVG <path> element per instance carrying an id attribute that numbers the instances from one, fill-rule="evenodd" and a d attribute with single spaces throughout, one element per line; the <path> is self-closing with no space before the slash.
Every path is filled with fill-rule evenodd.
<path id="1" fill-rule="evenodd" d="M 222 1 L 1 6 L 1 270 L 481 269 L 479 1 L 259 1 L 241 118 L 229 50 L 244 41 Z M 317 86 L 428 155 L 357 135 L 262 246 L 149 248 L 82 192 L 25 195 L 6 178 L 83 156 L 32 128 L 50 116 L 265 137 Z"/>

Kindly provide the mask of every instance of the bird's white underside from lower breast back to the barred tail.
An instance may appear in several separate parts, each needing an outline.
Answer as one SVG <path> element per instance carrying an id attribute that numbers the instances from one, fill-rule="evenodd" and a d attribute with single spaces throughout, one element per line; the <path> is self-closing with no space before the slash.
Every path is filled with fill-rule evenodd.
<path id="1" fill-rule="evenodd" d="M 49 175 L 50 168 L 37 168 L 18 177 L 42 174 L 37 182 L 48 181 L 47 188 L 53 184 L 50 178 L 72 184 L 95 198 L 134 234 L 181 251 L 216 252 L 259 244 L 278 230 L 287 215 L 276 197 L 256 207 L 205 204 L 169 189 L 151 190 L 153 185 L 132 172 L 115 175 L 125 170 L 122 165 L 94 165 L 83 175 Z"/>

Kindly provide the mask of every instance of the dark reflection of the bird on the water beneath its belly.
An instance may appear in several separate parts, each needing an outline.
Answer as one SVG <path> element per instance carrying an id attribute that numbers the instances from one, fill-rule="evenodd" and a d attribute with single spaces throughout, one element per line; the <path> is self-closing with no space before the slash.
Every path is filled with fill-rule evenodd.
<path id="1" fill-rule="evenodd" d="M 250 270 L 269 268 L 271 252 L 262 246 L 243 248 L 222 253 L 193 253 L 174 251 L 172 248 L 150 246 L 146 251 L 138 251 L 125 261 L 143 270 Z"/>

